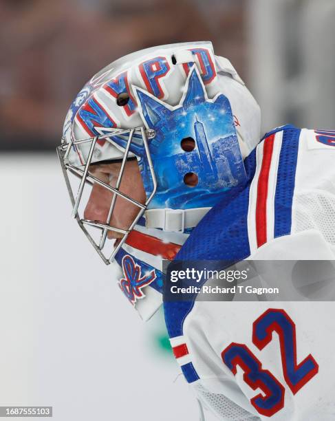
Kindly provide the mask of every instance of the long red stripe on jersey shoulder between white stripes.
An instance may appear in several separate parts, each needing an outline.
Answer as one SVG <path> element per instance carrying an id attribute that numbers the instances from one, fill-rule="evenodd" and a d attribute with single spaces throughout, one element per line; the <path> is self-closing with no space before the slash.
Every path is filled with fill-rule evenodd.
<path id="1" fill-rule="evenodd" d="M 256 203 L 256 235 L 257 246 L 266 243 L 266 199 L 268 198 L 268 182 L 274 144 L 274 134 L 264 140 L 263 162 L 259 173 Z"/>

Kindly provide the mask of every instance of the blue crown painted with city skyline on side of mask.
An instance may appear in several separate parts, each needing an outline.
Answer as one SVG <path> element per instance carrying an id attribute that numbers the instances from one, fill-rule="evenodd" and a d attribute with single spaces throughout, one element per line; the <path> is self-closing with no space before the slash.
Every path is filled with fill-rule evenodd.
<path id="1" fill-rule="evenodd" d="M 138 107 L 147 129 L 158 189 L 149 208 L 195 208 L 213 206 L 222 191 L 246 178 L 230 102 L 223 94 L 208 99 L 202 78 L 194 66 L 180 104 L 171 107 L 143 89 L 134 87 Z M 193 151 L 184 151 L 185 138 L 195 141 Z M 136 153 L 134 151 L 134 153 Z M 140 170 L 147 194 L 152 191 L 144 155 Z M 184 183 L 186 173 L 196 173 L 197 186 Z"/>

